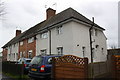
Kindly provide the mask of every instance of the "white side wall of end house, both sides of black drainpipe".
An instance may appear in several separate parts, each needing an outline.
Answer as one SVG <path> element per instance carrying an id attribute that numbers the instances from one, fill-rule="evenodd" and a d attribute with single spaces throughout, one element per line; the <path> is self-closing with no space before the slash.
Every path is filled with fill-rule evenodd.
<path id="1" fill-rule="evenodd" d="M 79 24 L 77 22 L 72 22 L 73 30 L 73 53 L 80 57 L 88 57 L 89 62 L 91 62 L 91 50 L 90 50 L 90 36 L 89 28 L 85 25 Z M 102 30 L 97 29 L 97 36 L 95 36 L 95 29 L 93 29 L 92 35 L 92 48 L 94 48 L 94 62 L 105 61 L 107 55 L 106 37 Z M 96 48 L 96 45 L 99 45 Z M 85 47 L 84 55 L 82 47 Z M 103 48 L 103 53 L 102 49 Z"/>

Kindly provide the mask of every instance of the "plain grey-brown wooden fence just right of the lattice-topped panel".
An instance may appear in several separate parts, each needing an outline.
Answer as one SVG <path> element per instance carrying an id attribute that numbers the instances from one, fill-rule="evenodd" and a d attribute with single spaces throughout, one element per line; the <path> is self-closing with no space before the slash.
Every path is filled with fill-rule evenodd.
<path id="1" fill-rule="evenodd" d="M 109 63 L 108 61 L 106 62 L 96 62 L 92 64 L 93 66 L 93 73 L 92 77 L 93 78 L 107 78 L 108 75 L 110 74 L 109 71 Z M 88 71 L 89 71 L 89 78 L 91 77 L 91 63 L 88 64 Z"/>

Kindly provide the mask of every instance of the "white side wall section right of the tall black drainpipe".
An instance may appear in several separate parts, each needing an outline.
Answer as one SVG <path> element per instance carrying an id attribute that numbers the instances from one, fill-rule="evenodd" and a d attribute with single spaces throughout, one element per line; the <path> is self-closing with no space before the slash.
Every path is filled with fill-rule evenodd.
<path id="1" fill-rule="evenodd" d="M 95 48 L 94 61 L 105 61 L 107 59 L 107 43 L 104 33 L 98 30 L 97 36 L 94 35 L 93 39 L 95 40 L 95 42 L 93 42 L 93 47 Z M 99 45 L 99 47 L 96 48 L 96 45 Z"/>

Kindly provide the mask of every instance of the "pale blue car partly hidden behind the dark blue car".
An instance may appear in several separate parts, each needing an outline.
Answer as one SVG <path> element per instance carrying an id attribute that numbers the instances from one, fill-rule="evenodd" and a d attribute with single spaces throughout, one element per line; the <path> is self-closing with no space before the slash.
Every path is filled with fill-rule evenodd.
<path id="1" fill-rule="evenodd" d="M 31 62 L 31 58 L 20 58 L 17 64 L 22 64 L 24 62 L 24 72 L 28 73 L 29 71 L 29 64 Z"/>

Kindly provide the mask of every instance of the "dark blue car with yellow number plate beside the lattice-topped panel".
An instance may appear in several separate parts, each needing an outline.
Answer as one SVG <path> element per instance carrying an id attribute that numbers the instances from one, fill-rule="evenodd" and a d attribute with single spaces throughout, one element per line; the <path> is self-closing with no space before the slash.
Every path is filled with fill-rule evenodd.
<path id="1" fill-rule="evenodd" d="M 30 62 L 28 76 L 31 78 L 50 78 L 52 57 L 60 57 L 60 55 L 35 56 Z"/>

